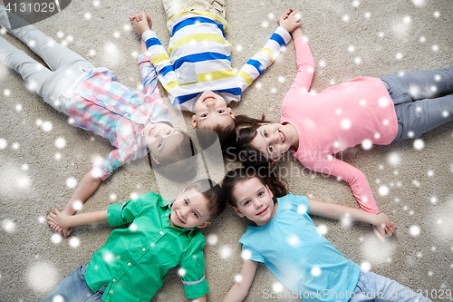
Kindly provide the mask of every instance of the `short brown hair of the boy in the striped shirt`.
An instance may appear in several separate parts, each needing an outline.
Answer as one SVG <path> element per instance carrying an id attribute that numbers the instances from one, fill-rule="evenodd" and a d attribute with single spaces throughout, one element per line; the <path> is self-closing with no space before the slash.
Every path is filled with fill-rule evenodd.
<path id="1" fill-rule="evenodd" d="M 223 127 L 222 125 L 216 125 L 212 129 L 210 128 L 198 128 L 196 127 L 197 137 L 199 144 L 203 150 L 208 150 L 218 138 L 220 143 L 220 148 L 222 153 L 225 155 L 226 151 L 230 147 L 235 147 L 236 145 L 236 126 L 235 123 Z"/>

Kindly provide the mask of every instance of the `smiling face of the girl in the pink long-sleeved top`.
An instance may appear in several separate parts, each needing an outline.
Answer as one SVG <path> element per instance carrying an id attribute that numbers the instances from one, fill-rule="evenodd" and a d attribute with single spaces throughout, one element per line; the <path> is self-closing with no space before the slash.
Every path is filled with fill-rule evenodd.
<path id="1" fill-rule="evenodd" d="M 267 159 L 278 161 L 294 143 L 294 132 L 287 125 L 289 124 L 264 124 L 256 129 L 256 136 L 251 141 L 252 146 L 261 151 Z"/>

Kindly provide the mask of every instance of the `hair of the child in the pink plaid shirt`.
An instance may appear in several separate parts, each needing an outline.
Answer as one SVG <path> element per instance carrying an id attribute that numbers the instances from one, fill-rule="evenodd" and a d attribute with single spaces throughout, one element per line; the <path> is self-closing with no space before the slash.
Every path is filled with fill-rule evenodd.
<path id="1" fill-rule="evenodd" d="M 160 156 L 159 163 L 148 156 L 153 170 L 169 180 L 184 182 L 192 180 L 197 175 L 198 151 L 187 133 L 179 133 L 183 135 L 183 140 L 174 151 L 169 153 L 169 156 Z M 179 133 L 173 135 L 179 135 Z"/>

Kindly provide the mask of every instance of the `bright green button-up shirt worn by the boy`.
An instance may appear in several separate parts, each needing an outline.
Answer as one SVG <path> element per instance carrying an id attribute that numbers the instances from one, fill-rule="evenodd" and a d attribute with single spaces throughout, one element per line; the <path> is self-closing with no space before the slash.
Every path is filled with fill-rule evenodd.
<path id="1" fill-rule="evenodd" d="M 180 265 L 186 297 L 205 295 L 209 290 L 203 258 L 205 238 L 197 228 L 170 227 L 169 215 L 169 202 L 156 193 L 111 205 L 107 218 L 112 227 L 131 224 L 127 229 L 114 229 L 92 256 L 85 273 L 92 291 L 107 285 L 104 301 L 149 302 L 169 268 Z"/>

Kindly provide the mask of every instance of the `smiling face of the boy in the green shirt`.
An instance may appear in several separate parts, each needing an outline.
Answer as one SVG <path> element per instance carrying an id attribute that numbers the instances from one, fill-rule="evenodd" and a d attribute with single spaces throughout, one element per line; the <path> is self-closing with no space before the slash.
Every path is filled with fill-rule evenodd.
<path id="1" fill-rule="evenodd" d="M 173 205 L 169 223 L 172 227 L 192 229 L 205 228 L 209 219 L 209 200 L 195 189 L 182 190 Z"/>

